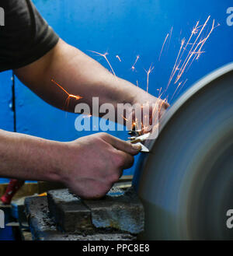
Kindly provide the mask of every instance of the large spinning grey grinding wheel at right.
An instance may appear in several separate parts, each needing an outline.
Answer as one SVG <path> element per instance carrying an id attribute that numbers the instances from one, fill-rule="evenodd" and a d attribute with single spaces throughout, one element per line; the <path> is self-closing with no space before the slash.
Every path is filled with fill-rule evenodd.
<path id="1" fill-rule="evenodd" d="M 233 63 L 196 82 L 164 114 L 134 175 L 148 240 L 233 240 Z"/>

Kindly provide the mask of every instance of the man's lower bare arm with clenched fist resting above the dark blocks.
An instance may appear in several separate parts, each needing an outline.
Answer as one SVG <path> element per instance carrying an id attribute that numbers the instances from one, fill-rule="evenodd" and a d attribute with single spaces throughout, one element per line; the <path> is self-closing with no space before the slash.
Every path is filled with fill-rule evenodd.
<path id="1" fill-rule="evenodd" d="M 105 133 L 54 142 L 0 130 L 0 142 L 0 177 L 61 182 L 82 198 L 105 195 L 140 150 Z"/>

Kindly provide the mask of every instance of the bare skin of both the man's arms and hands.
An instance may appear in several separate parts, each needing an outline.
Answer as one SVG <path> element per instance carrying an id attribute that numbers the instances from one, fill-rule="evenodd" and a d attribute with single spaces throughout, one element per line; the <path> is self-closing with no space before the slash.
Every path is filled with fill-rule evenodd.
<path id="1" fill-rule="evenodd" d="M 42 58 L 14 70 L 34 93 L 54 107 L 64 109 L 67 94 L 54 85 L 56 79 L 72 95 L 66 110 L 74 112 L 77 103 L 92 97 L 99 105 L 112 103 L 158 102 L 162 114 L 168 105 L 124 79 L 117 78 L 97 61 L 59 40 Z M 97 133 L 72 142 L 55 142 L 30 135 L 0 130 L 0 176 L 23 180 L 56 181 L 65 184 L 82 198 L 100 198 L 131 167 L 140 146 Z"/>

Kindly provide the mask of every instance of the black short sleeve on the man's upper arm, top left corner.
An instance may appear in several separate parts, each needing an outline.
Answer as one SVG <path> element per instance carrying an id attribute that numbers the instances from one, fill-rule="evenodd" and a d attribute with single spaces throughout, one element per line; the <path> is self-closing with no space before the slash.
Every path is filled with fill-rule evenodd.
<path id="1" fill-rule="evenodd" d="M 1 0 L 0 72 L 22 68 L 47 54 L 59 39 L 31 0 Z"/>

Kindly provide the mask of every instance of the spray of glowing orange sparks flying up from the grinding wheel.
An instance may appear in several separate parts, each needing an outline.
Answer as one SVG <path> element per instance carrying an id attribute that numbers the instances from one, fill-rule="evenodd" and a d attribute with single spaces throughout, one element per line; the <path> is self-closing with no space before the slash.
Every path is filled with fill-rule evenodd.
<path id="1" fill-rule="evenodd" d="M 215 25 L 215 21 L 213 19 L 213 23 L 212 26 L 209 28 L 209 26 L 207 26 L 207 24 L 210 22 L 210 16 L 207 17 L 207 19 L 205 20 L 205 22 L 203 24 L 200 24 L 200 21 L 198 20 L 196 22 L 196 25 L 193 26 L 192 30 L 190 30 L 190 35 L 189 37 L 187 37 L 188 40 L 186 40 L 186 38 L 183 38 L 181 40 L 180 43 L 180 47 L 179 47 L 179 52 L 176 56 L 176 60 L 175 60 L 175 64 L 172 66 L 172 72 L 171 75 L 169 77 L 169 82 L 165 88 L 165 90 L 162 90 L 162 87 L 160 89 L 157 89 L 158 91 L 158 103 L 155 103 L 155 107 L 153 109 L 150 109 L 150 113 L 149 115 L 143 114 L 143 120 L 146 121 L 149 120 L 149 124 L 151 123 L 151 118 L 154 116 L 155 111 L 158 112 L 158 114 L 160 113 L 160 110 L 162 109 L 162 106 L 164 103 L 168 103 L 169 102 L 169 95 L 165 96 L 165 99 L 162 100 L 162 95 L 165 94 L 165 92 L 167 91 L 167 89 L 169 88 L 169 86 L 173 83 L 174 85 L 176 85 L 176 89 L 174 90 L 174 93 L 172 94 L 172 97 L 170 100 L 173 99 L 174 96 L 176 96 L 176 94 L 179 94 L 179 92 L 183 89 L 183 86 L 186 85 L 186 82 L 188 81 L 188 79 L 183 79 L 183 74 L 186 73 L 190 66 L 193 64 L 193 61 L 198 61 L 200 58 L 200 55 L 203 54 L 205 51 L 203 51 L 203 46 L 204 44 L 207 42 L 207 40 L 210 37 L 210 34 L 213 32 L 213 30 L 217 27 L 220 26 L 219 23 L 217 23 L 217 26 Z M 163 41 L 162 44 L 162 49 L 160 51 L 160 54 L 158 56 L 158 61 L 161 60 L 162 58 L 162 54 L 165 51 L 165 49 L 167 49 L 169 47 L 170 44 L 170 40 L 172 38 L 172 31 L 173 31 L 173 26 L 171 28 L 171 30 L 169 31 L 169 33 L 166 34 L 165 36 L 165 40 Z M 182 30 L 180 30 L 180 34 L 182 33 Z M 115 72 L 113 71 L 112 66 L 110 65 L 110 61 L 108 60 L 108 58 L 106 57 L 106 55 L 108 53 L 105 54 L 100 54 L 99 52 L 96 51 L 92 51 L 95 54 L 98 54 L 99 56 L 102 56 L 103 58 L 105 58 L 105 60 L 107 61 L 108 65 L 110 66 L 113 75 L 115 75 Z M 121 62 L 120 56 L 116 55 L 116 58 Z M 137 55 L 134 64 L 131 66 L 131 70 L 134 72 L 135 69 L 135 65 L 137 64 L 137 61 L 139 60 L 140 56 Z M 149 79 L 150 79 L 150 74 L 153 71 L 154 67 L 152 67 L 152 64 L 150 66 L 150 68 L 148 70 L 144 71 L 147 74 L 147 79 L 146 79 L 146 92 L 148 93 L 148 88 L 149 88 Z M 116 76 L 116 75 L 115 75 Z M 137 83 L 137 87 L 139 87 L 138 85 L 138 81 L 136 81 Z M 63 89 L 63 88 L 61 88 Z M 64 90 L 64 89 L 63 89 Z M 64 90 L 65 91 L 65 90 Z M 65 93 L 67 93 L 65 91 Z M 67 93 L 68 94 L 68 93 Z M 157 93 L 156 93 L 157 94 Z M 68 94 L 69 95 L 69 94 Z M 147 101 L 146 103 L 149 104 L 149 102 Z M 151 112 L 152 111 L 152 112 Z M 123 116 L 122 116 L 123 117 Z M 128 121 L 127 118 L 123 117 L 123 119 L 125 121 Z M 132 128 L 138 128 L 138 121 L 137 119 L 135 121 L 133 121 L 132 123 Z M 146 124 L 143 124 L 141 122 L 141 133 L 144 134 L 145 132 L 147 132 L 147 128 Z"/>

